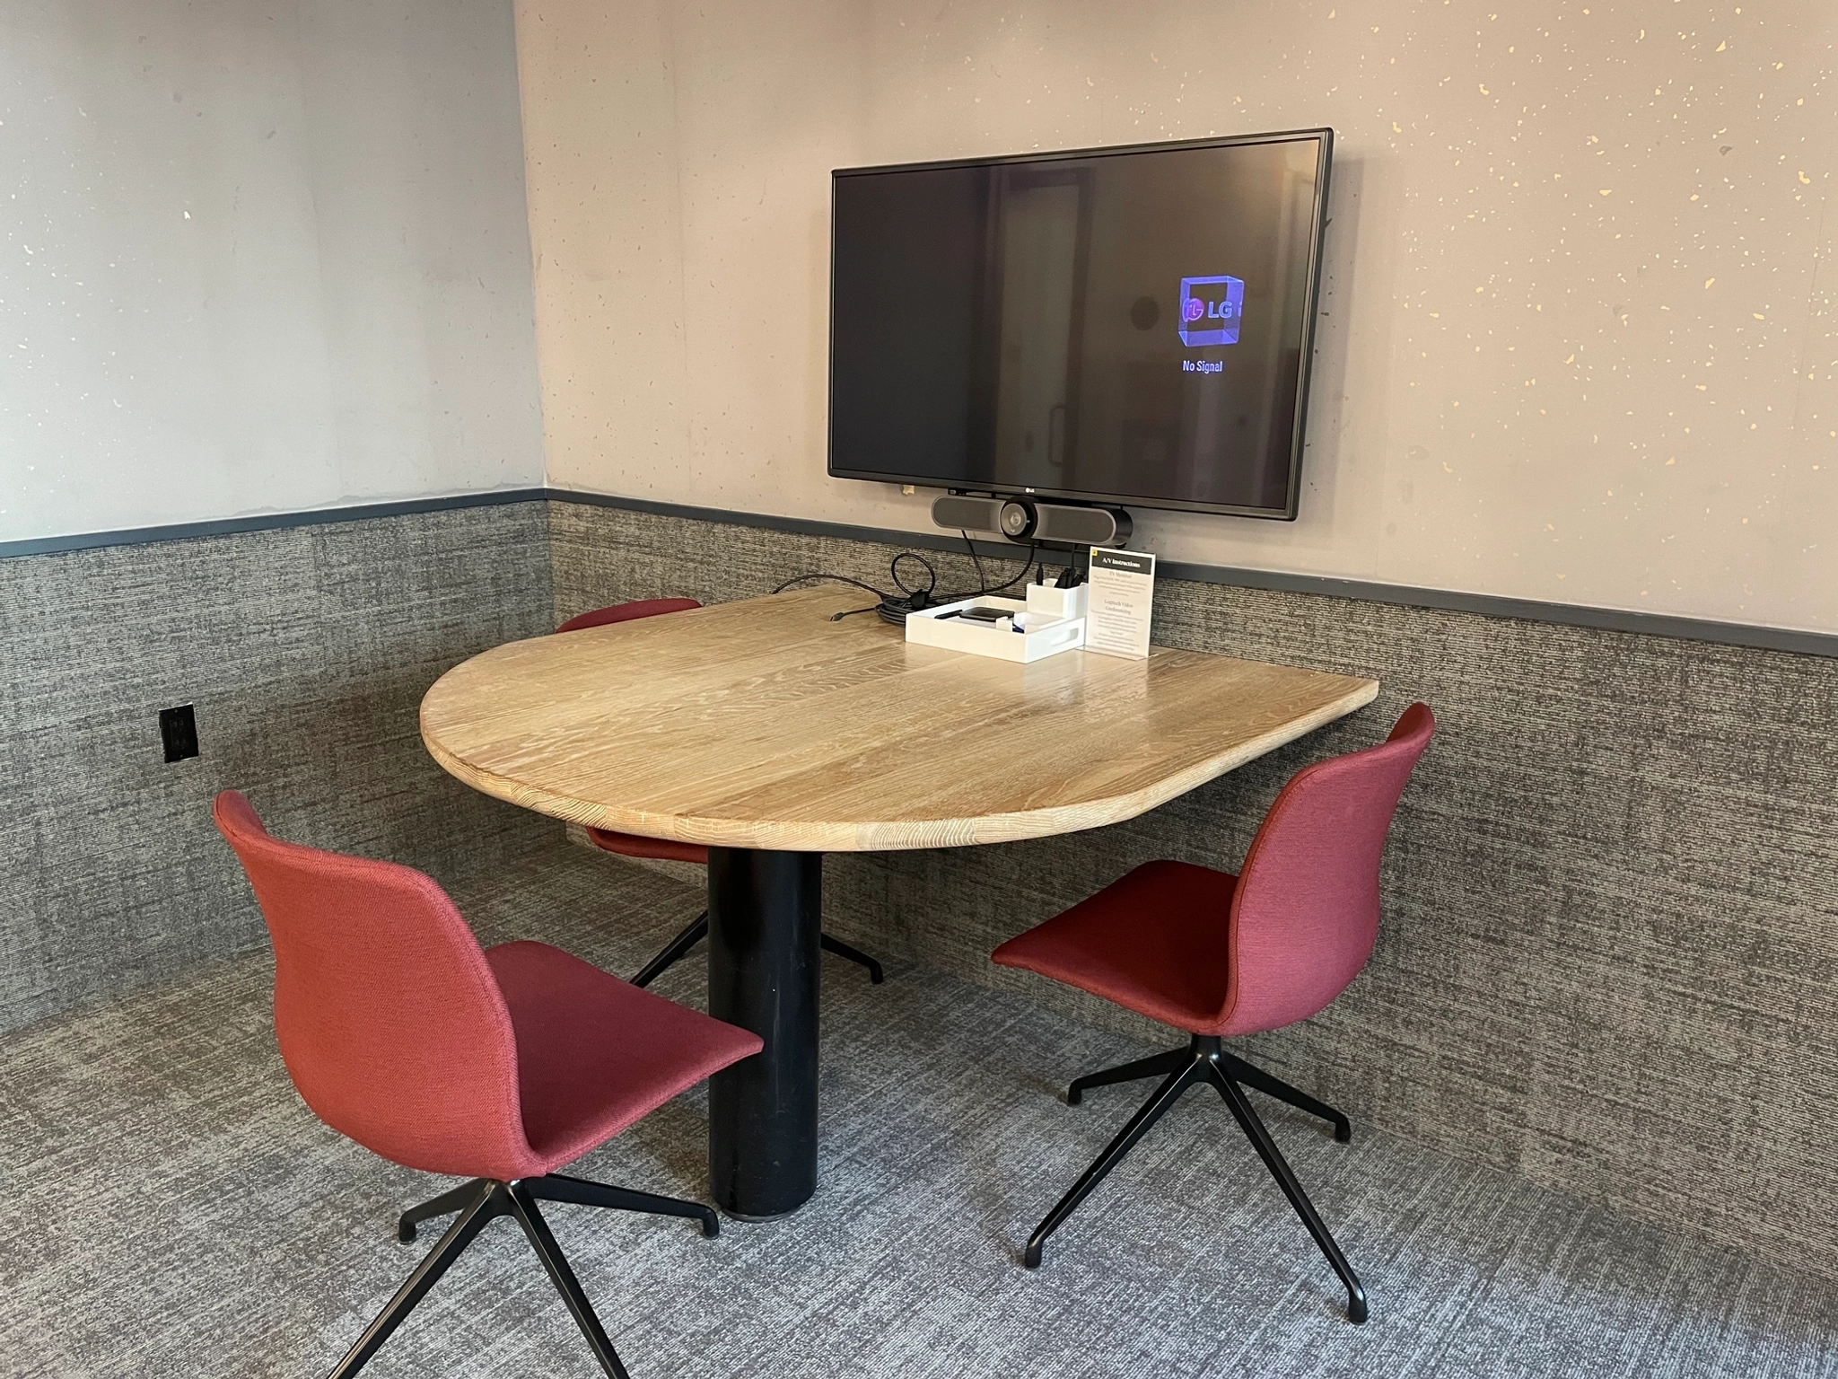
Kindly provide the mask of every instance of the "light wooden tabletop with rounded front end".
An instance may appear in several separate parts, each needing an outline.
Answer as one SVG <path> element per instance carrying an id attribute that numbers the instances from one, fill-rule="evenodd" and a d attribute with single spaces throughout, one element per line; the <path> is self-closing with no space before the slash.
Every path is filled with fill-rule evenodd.
<path id="1" fill-rule="evenodd" d="M 421 701 L 485 794 L 720 848 L 891 851 L 1134 818 L 1369 704 L 1377 680 L 1156 647 L 1031 666 L 908 645 L 805 588 L 511 642 Z"/>

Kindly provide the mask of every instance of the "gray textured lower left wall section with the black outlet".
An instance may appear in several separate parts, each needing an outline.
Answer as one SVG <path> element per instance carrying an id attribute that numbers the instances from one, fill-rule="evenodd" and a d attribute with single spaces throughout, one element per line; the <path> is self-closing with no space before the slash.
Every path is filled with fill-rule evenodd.
<path id="1" fill-rule="evenodd" d="M 436 873 L 537 837 L 434 767 L 415 710 L 550 601 L 544 504 L 0 561 L 0 1028 L 265 941 L 219 789 Z M 202 754 L 167 765 L 187 702 Z"/>

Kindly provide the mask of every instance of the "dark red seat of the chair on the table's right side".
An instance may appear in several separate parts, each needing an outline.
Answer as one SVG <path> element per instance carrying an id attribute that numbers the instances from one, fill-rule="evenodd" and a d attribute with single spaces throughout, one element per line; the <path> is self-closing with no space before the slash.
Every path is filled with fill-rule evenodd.
<path id="1" fill-rule="evenodd" d="M 1187 1033 L 1219 1033 L 1237 877 L 1147 862 L 991 954 Z"/>

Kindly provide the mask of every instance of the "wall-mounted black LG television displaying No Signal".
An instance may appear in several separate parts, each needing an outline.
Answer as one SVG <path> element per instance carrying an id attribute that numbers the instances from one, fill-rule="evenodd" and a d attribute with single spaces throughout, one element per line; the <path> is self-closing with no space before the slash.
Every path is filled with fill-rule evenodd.
<path id="1" fill-rule="evenodd" d="M 836 171 L 829 473 L 1292 519 L 1331 145 Z"/>

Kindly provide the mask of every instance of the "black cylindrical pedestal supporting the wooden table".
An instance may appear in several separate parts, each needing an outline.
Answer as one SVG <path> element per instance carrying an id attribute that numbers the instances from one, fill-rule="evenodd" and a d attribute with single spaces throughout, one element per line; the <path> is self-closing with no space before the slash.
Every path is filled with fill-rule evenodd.
<path id="1" fill-rule="evenodd" d="M 715 1204 L 743 1219 L 816 1191 L 822 901 L 822 853 L 708 849 L 708 1013 L 766 1041 L 708 1085 Z"/>

